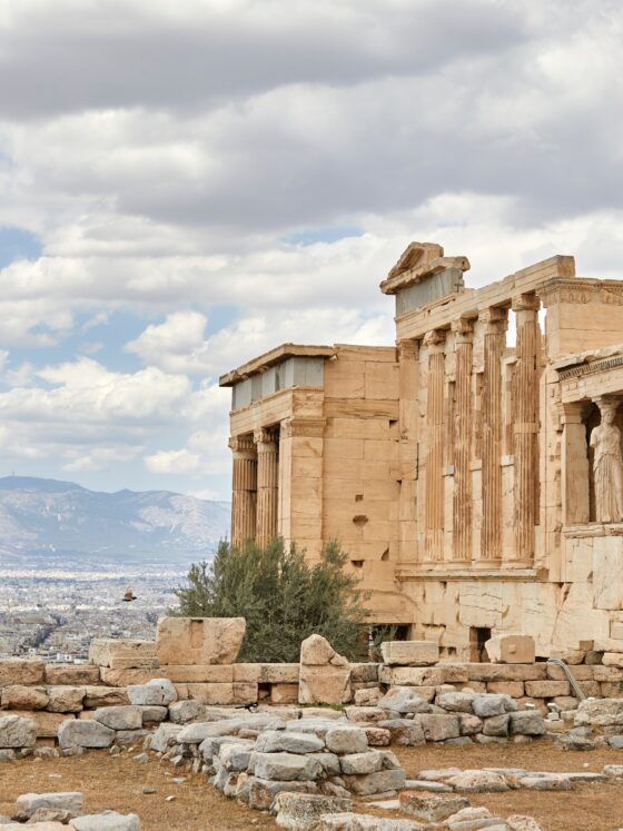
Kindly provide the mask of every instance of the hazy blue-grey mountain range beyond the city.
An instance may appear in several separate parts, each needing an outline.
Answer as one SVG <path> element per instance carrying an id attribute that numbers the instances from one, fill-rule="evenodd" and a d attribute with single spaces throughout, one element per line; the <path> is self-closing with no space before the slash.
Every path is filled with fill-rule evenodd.
<path id="1" fill-rule="evenodd" d="M 209 557 L 230 505 L 169 491 L 98 493 L 73 482 L 0 478 L 0 565 L 32 558 L 172 565 Z"/>

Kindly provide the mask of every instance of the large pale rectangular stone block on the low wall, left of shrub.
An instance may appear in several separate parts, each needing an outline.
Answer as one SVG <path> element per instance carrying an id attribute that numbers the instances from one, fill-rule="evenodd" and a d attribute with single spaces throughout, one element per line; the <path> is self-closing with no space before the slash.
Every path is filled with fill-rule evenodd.
<path id="1" fill-rule="evenodd" d="M 161 666 L 233 664 L 245 631 L 244 617 L 162 617 L 156 653 Z"/>

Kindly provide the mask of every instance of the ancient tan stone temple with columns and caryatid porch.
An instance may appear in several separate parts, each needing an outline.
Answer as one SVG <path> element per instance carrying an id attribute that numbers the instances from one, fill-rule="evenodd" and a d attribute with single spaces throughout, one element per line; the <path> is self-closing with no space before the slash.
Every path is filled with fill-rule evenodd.
<path id="1" fill-rule="evenodd" d="M 623 653 L 623 281 L 556 256 L 479 289 L 413 243 L 396 347 L 287 344 L 233 389 L 233 540 L 340 541 L 370 621 L 478 660 Z"/>

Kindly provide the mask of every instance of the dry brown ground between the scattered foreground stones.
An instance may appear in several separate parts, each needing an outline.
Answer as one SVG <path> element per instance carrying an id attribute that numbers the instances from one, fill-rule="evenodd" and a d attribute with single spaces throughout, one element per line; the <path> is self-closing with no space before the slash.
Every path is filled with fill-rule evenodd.
<path id="1" fill-rule="evenodd" d="M 397 749 L 397 755 L 408 779 L 415 779 L 425 768 L 504 766 L 601 772 L 604 764 L 623 764 L 623 751 L 564 752 L 548 742 L 486 748 L 428 744 Z M 176 775 L 185 775 L 187 781 L 174 784 L 171 780 Z M 155 788 L 156 793 L 144 794 L 145 785 Z M 26 759 L 0 765 L 0 814 L 10 813 L 20 793 L 60 790 L 82 791 L 88 812 L 113 809 L 121 813 L 138 813 L 142 831 L 276 829 L 270 817 L 225 799 L 202 776 L 174 771 L 156 760 L 140 764 L 130 755 L 111 758 L 106 752 L 91 752 L 68 759 L 38 762 Z M 167 802 L 169 795 L 175 800 Z M 500 817 L 512 813 L 535 817 L 545 831 L 614 831 L 623 828 L 623 780 L 576 784 L 572 791 L 511 791 L 471 794 L 468 799 L 473 805 L 486 805 Z M 356 810 L 397 815 L 375 811 L 365 801 L 358 802 Z"/>

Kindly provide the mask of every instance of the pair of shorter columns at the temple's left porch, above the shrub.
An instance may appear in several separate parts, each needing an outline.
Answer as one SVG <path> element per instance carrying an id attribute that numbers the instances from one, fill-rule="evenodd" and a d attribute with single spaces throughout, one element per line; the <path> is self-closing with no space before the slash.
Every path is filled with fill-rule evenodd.
<path id="1" fill-rule="evenodd" d="M 279 428 L 260 427 L 229 441 L 234 454 L 231 543 L 266 545 L 278 533 Z"/>

